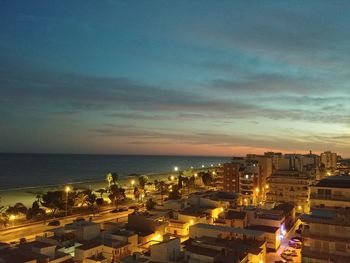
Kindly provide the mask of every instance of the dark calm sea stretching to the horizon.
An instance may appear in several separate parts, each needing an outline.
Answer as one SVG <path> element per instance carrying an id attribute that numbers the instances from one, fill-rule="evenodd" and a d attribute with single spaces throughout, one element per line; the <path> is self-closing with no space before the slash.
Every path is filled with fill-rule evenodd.
<path id="1" fill-rule="evenodd" d="M 119 176 L 170 172 L 174 166 L 210 166 L 229 157 L 0 154 L 0 190 L 104 179 L 108 172 Z"/>

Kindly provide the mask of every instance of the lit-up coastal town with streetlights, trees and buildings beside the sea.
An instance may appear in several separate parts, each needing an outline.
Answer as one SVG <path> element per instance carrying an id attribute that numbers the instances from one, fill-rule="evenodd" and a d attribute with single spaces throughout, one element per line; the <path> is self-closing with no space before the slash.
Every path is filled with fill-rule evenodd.
<path id="1" fill-rule="evenodd" d="M 350 162 L 266 152 L 2 207 L 0 262 L 350 262 Z"/>

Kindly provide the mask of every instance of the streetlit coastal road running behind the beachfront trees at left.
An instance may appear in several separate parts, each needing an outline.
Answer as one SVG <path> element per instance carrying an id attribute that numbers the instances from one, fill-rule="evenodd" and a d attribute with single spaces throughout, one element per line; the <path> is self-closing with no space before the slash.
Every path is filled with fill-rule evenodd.
<path id="1" fill-rule="evenodd" d="M 119 212 L 119 213 L 111 213 L 112 209 L 103 211 L 99 214 L 96 214 L 92 221 L 96 223 L 102 223 L 106 221 L 112 221 L 119 218 L 123 218 L 128 216 L 128 214 L 134 212 L 133 209 L 129 209 L 128 211 Z M 84 217 L 86 220 L 89 220 L 89 216 L 69 216 L 62 217 L 59 219 L 61 226 L 65 224 L 72 223 L 77 217 Z M 34 240 L 35 236 L 44 233 L 50 229 L 57 228 L 57 226 L 48 226 L 43 222 L 38 222 L 36 224 L 31 224 L 27 226 L 18 226 L 15 228 L 4 229 L 0 231 L 0 242 L 18 242 L 20 238 L 26 238 L 26 240 Z"/>

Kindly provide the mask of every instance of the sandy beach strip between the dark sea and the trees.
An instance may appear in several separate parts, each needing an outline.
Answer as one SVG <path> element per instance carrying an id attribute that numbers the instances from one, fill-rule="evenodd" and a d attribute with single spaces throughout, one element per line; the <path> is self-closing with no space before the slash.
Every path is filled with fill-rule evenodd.
<path id="1" fill-rule="evenodd" d="M 200 171 L 210 171 L 216 169 L 216 167 L 207 167 L 193 169 L 193 172 Z M 168 180 L 171 175 L 177 175 L 176 172 L 166 172 L 166 173 L 147 173 L 140 175 L 127 175 L 118 178 L 118 183 L 121 187 L 129 189 L 131 186 L 131 180 L 135 180 L 137 183 L 137 178 L 141 175 L 146 175 L 151 182 L 154 180 Z M 32 206 L 32 203 L 36 200 L 37 194 L 43 194 L 48 191 L 63 190 L 65 186 L 72 186 L 76 190 L 92 190 L 95 191 L 101 188 L 106 188 L 108 182 L 106 179 L 100 180 L 89 180 L 80 182 L 68 182 L 66 184 L 55 184 L 55 185 L 44 185 L 44 186 L 32 186 L 23 188 L 12 188 L 0 190 L 0 205 L 2 206 L 13 206 L 15 203 L 23 203 L 27 208 Z"/>

